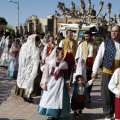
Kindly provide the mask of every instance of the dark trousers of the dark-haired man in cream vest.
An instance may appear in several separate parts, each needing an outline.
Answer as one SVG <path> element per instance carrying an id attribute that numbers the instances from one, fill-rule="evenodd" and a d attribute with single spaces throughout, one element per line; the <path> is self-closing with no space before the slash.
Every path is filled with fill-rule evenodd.
<path id="1" fill-rule="evenodd" d="M 88 67 L 87 66 L 86 70 L 87 70 L 87 81 L 89 81 L 89 80 L 91 80 L 92 67 Z M 90 85 L 89 87 L 87 87 L 87 94 L 88 94 L 89 100 L 91 98 L 91 96 L 90 96 L 91 90 L 92 90 L 92 85 Z"/>

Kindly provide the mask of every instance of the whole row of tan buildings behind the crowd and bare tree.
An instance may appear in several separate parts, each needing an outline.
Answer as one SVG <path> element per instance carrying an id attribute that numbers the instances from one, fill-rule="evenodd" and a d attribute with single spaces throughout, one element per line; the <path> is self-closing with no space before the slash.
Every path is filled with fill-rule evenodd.
<path id="1" fill-rule="evenodd" d="M 98 23 L 98 25 L 101 25 L 101 19 L 102 18 L 99 18 L 98 20 L 93 19 L 92 23 Z M 57 18 L 54 15 L 48 15 L 47 18 L 38 18 L 36 15 L 32 15 L 24 26 L 20 25 L 19 28 L 16 27 L 16 31 L 19 31 L 21 36 L 25 35 L 27 32 L 33 33 L 36 30 L 38 33 L 50 33 L 56 36 L 59 24 L 78 24 L 79 21 L 80 19 L 67 18 L 66 16 L 63 18 Z M 87 22 L 90 22 L 89 18 L 87 18 Z M 100 28 L 100 30 L 103 29 Z"/>

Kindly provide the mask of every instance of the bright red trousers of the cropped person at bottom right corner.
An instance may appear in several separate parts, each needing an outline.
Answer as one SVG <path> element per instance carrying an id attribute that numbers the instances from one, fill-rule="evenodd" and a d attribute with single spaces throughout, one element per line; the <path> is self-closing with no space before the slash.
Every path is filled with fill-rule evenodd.
<path id="1" fill-rule="evenodd" d="M 120 98 L 115 97 L 115 119 L 120 119 Z"/>

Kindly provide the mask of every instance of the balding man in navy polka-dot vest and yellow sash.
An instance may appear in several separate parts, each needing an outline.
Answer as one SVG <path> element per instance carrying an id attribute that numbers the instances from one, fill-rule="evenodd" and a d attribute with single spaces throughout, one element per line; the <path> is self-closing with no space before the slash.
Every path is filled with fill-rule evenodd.
<path id="1" fill-rule="evenodd" d="M 105 40 L 99 47 L 93 64 L 92 78 L 97 77 L 97 70 L 103 64 L 101 97 L 105 120 L 111 120 L 114 114 L 114 94 L 108 89 L 108 83 L 114 71 L 120 67 L 120 27 L 115 25 L 111 30 L 111 39 Z"/>

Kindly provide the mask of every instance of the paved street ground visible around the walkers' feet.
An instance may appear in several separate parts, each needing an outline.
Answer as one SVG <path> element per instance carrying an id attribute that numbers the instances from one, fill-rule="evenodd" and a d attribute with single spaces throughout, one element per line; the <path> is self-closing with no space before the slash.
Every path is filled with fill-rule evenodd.
<path id="1" fill-rule="evenodd" d="M 101 73 L 101 72 L 100 72 Z M 6 75 L 6 69 L 0 68 L 0 120 L 46 120 L 46 116 L 38 115 L 37 109 L 40 96 L 34 98 L 34 103 L 27 103 L 14 94 L 16 80 Z M 80 120 L 104 120 L 102 100 L 100 96 L 100 77 L 94 81 L 91 93 L 91 103 L 85 104 Z M 73 112 L 68 118 L 60 120 L 75 120 Z"/>

